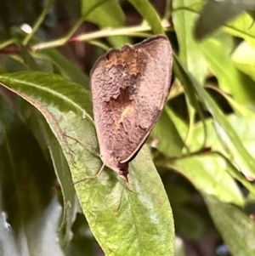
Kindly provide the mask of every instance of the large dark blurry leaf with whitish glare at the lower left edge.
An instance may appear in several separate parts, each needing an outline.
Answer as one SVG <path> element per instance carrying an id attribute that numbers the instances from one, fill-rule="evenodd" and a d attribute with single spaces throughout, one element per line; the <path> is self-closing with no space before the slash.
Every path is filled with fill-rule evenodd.
<path id="1" fill-rule="evenodd" d="M 54 175 L 13 106 L 0 97 L 1 255 L 63 255 Z"/>

